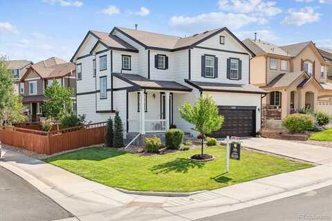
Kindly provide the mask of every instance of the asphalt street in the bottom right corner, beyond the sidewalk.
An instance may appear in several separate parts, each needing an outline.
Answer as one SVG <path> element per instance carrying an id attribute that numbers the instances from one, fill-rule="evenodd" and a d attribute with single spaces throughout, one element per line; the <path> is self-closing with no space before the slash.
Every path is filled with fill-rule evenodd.
<path id="1" fill-rule="evenodd" d="M 332 220 L 332 186 L 201 220 L 329 221 Z"/>

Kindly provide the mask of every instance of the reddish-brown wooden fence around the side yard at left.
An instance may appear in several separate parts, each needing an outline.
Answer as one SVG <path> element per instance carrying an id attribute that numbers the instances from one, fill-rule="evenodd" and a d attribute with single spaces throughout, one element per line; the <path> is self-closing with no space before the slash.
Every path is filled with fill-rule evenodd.
<path id="1" fill-rule="evenodd" d="M 100 122 L 50 132 L 3 126 L 0 128 L 0 141 L 28 151 L 52 155 L 104 143 L 106 124 Z"/>

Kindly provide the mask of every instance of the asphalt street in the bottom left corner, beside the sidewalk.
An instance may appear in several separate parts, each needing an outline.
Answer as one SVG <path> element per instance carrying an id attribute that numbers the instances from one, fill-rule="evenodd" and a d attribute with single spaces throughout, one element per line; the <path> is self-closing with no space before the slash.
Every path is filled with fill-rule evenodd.
<path id="1" fill-rule="evenodd" d="M 35 187 L 0 166 L 0 221 L 60 220 L 72 215 Z"/>

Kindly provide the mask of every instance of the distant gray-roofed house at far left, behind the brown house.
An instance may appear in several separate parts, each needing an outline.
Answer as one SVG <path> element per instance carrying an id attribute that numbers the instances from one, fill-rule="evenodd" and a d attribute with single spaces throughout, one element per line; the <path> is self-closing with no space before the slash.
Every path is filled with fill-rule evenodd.
<path id="1" fill-rule="evenodd" d="M 5 61 L 7 69 L 15 79 L 15 93 L 19 93 L 19 80 L 26 73 L 26 70 L 33 65 L 33 61 L 9 60 Z"/>

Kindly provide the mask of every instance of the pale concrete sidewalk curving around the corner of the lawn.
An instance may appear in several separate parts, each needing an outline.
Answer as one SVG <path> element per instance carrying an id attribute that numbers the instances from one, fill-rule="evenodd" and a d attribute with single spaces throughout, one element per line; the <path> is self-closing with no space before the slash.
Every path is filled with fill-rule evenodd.
<path id="1" fill-rule="evenodd" d="M 292 143 L 293 144 L 293 143 Z M 129 195 L 56 166 L 8 151 L 0 166 L 33 184 L 72 220 L 196 220 L 332 184 L 332 166 L 264 177 L 190 197 Z"/>

